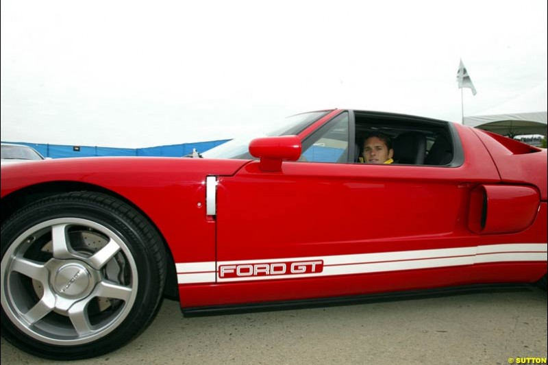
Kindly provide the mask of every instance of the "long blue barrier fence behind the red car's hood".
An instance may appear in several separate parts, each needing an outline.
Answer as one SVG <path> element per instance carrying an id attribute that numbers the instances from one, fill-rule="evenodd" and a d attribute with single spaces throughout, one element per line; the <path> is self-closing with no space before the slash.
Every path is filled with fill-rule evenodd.
<path id="1" fill-rule="evenodd" d="M 207 142 L 194 142 L 182 144 L 170 144 L 166 146 L 147 147 L 142 149 L 123 149 L 115 147 L 93 147 L 93 146 L 68 146 L 64 144 L 40 144 L 28 142 L 7 142 L 25 144 L 40 152 L 44 157 L 49 158 L 73 158 L 93 156 L 164 156 L 181 157 L 192 153 L 192 149 L 198 152 L 206 152 L 208 149 L 219 146 L 229 140 L 210 140 Z"/>

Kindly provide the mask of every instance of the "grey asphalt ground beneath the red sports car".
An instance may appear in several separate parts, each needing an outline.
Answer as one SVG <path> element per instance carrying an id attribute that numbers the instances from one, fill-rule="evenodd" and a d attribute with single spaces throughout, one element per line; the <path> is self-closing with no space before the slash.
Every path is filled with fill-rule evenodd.
<path id="1" fill-rule="evenodd" d="M 71 364 L 509 364 L 527 357 L 547 357 L 547 293 L 536 288 L 195 318 L 166 300 L 136 340 Z M 3 338 L 1 363 L 58 364 Z"/>

